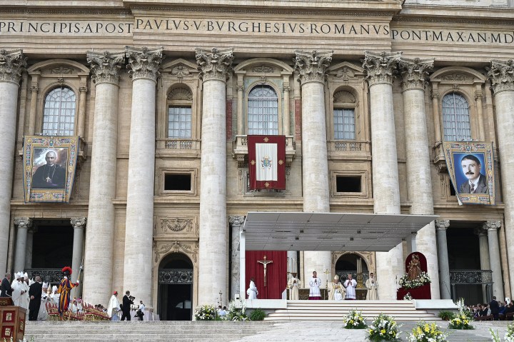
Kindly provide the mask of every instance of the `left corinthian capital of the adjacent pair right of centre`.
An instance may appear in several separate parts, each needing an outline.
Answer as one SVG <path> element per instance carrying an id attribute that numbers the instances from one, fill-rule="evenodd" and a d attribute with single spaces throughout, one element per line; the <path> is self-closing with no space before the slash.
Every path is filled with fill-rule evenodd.
<path id="1" fill-rule="evenodd" d="M 368 84 L 387 83 L 393 84 L 393 77 L 396 71 L 396 64 L 401 59 L 401 52 L 385 52 L 376 54 L 366 51 L 364 53 L 363 68 L 366 70 Z"/>

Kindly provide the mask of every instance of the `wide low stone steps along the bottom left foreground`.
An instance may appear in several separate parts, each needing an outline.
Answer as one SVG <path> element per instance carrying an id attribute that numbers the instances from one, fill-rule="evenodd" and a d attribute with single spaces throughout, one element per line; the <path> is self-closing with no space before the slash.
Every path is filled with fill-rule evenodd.
<path id="1" fill-rule="evenodd" d="M 272 322 L 199 321 L 27 321 L 26 341 L 228 342 L 267 331 Z"/>

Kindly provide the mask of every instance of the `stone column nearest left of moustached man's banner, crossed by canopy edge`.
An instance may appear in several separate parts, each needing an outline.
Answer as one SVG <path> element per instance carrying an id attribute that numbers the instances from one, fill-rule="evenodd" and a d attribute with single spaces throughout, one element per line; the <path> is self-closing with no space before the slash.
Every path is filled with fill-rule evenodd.
<path id="1" fill-rule="evenodd" d="M 403 116 L 405 118 L 405 154 L 407 156 L 407 193 L 410 213 L 433 215 L 430 151 L 425 114 L 425 85 L 433 59 L 401 59 Z M 415 236 L 415 248 L 427 259 L 427 272 L 432 278 L 430 292 L 439 299 L 438 258 L 435 246 L 435 224 L 429 223 Z"/>

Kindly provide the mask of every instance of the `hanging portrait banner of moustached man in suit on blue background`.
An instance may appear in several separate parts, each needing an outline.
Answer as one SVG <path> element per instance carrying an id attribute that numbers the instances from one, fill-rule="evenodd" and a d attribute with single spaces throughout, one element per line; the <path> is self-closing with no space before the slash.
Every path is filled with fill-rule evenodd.
<path id="1" fill-rule="evenodd" d="M 495 204 L 493 143 L 445 142 L 446 165 L 459 204 Z"/>

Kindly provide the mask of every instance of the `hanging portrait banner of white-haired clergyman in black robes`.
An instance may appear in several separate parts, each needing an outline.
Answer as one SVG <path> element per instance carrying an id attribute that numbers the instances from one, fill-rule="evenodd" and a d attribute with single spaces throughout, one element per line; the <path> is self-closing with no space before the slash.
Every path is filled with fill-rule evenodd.
<path id="1" fill-rule="evenodd" d="M 69 202 L 79 144 L 79 136 L 24 137 L 25 203 Z"/>

